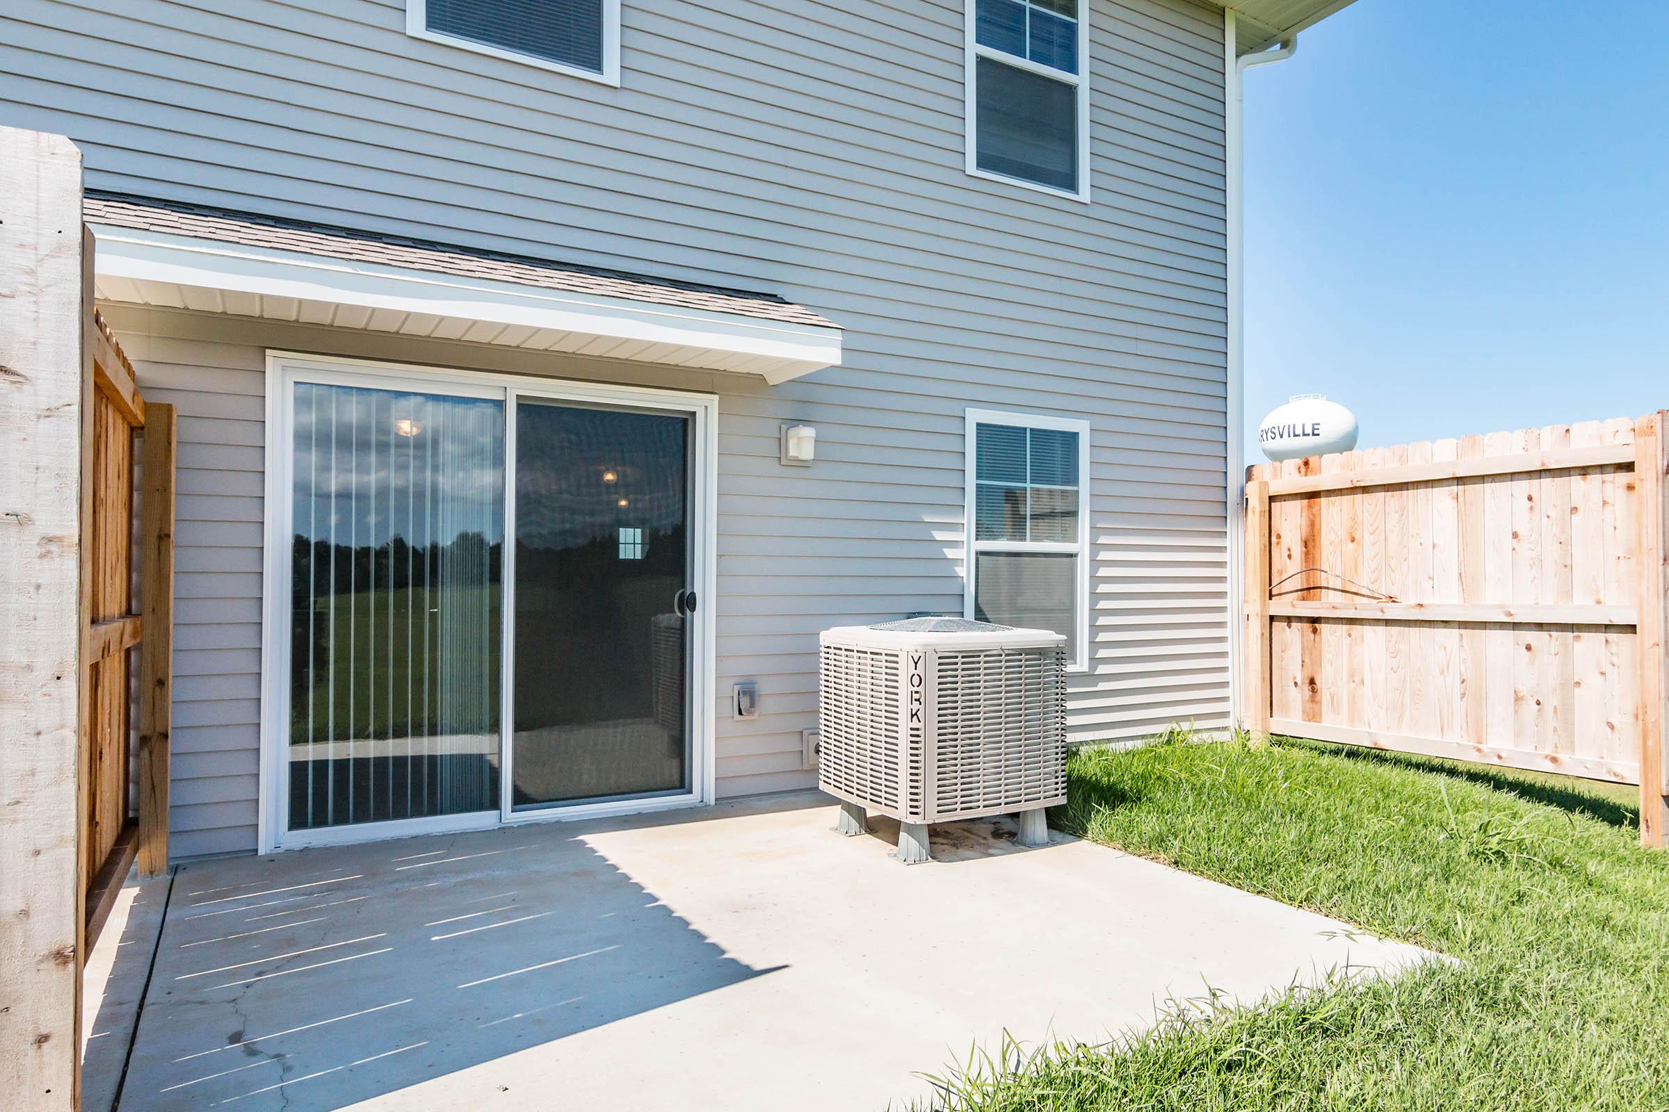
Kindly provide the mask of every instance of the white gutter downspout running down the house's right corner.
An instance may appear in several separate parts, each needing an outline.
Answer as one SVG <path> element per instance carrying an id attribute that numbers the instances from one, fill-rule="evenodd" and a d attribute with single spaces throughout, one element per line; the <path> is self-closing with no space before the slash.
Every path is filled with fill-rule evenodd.
<path id="1" fill-rule="evenodd" d="M 1245 195 L 1242 75 L 1257 65 L 1285 62 L 1298 50 L 1298 37 L 1280 40 L 1275 50 L 1240 57 L 1235 47 L 1235 10 L 1223 10 L 1223 177 L 1227 193 L 1227 278 L 1228 278 L 1228 390 L 1227 390 L 1227 500 L 1228 500 L 1228 695 L 1230 722 L 1240 724 L 1245 707 L 1245 445 L 1240 428 L 1245 378 Z"/>

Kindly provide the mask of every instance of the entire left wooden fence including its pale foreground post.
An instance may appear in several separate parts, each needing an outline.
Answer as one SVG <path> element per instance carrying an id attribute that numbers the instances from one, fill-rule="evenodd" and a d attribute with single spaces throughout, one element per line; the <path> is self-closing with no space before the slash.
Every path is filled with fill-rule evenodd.
<path id="1" fill-rule="evenodd" d="M 93 312 L 62 135 L 0 127 L 0 1107 L 73 1112 L 87 950 L 132 855 L 167 867 L 175 433 Z"/>

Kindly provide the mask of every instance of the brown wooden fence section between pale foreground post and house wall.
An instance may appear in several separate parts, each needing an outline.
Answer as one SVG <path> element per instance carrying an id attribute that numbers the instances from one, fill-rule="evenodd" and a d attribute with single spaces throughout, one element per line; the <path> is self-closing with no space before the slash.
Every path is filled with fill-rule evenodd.
<path id="1" fill-rule="evenodd" d="M 82 427 L 80 869 L 90 947 L 135 855 L 145 875 L 160 874 L 169 864 L 175 417 L 172 405 L 145 405 L 132 363 L 97 310 L 87 322 L 85 343 L 93 390 Z M 139 458 L 144 490 L 137 500 L 135 433 L 144 433 Z M 134 609 L 135 548 L 139 610 Z M 135 700 L 137 807 L 129 782 L 135 765 Z"/>

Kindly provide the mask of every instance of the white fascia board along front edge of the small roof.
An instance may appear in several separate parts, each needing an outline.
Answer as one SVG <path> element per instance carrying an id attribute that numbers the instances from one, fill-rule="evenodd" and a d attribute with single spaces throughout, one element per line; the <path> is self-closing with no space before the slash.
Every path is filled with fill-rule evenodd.
<path id="1" fill-rule="evenodd" d="M 551 290 L 516 282 L 464 278 L 305 252 L 285 252 L 167 232 L 92 225 L 95 273 L 205 290 L 295 298 L 404 313 L 484 320 L 686 348 L 714 358 L 758 357 L 768 382 L 838 367 L 841 330 L 744 313 L 686 308 Z M 561 348 L 552 348 L 561 350 Z"/>

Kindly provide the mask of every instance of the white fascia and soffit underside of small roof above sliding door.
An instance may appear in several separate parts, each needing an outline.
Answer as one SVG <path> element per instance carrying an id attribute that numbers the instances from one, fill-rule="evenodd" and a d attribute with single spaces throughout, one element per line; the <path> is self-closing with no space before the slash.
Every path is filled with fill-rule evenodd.
<path id="1" fill-rule="evenodd" d="M 728 370 L 769 383 L 841 360 L 834 327 L 90 227 L 93 292 L 108 302 Z"/>

